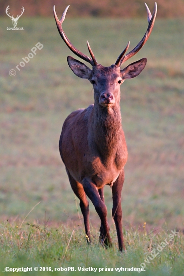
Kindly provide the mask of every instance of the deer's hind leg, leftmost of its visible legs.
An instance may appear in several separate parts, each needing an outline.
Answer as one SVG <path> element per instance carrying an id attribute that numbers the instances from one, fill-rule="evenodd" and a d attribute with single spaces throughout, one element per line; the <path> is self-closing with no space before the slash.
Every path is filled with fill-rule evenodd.
<path id="1" fill-rule="evenodd" d="M 84 192 L 82 184 L 75 181 L 75 179 L 71 176 L 68 170 L 67 170 L 67 174 L 68 174 L 68 178 L 69 178 L 72 190 L 80 200 L 80 208 L 84 218 L 86 240 L 88 243 L 91 243 L 90 225 L 89 225 L 89 202 L 86 198 L 86 194 Z"/>

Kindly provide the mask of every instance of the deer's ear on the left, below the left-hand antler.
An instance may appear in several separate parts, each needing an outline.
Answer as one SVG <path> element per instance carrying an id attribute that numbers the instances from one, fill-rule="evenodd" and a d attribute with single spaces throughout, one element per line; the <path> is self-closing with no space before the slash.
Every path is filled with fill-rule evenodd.
<path id="1" fill-rule="evenodd" d="M 75 75 L 82 79 L 91 79 L 92 70 L 84 63 L 70 56 L 67 57 L 67 61 L 70 69 L 74 72 Z"/>

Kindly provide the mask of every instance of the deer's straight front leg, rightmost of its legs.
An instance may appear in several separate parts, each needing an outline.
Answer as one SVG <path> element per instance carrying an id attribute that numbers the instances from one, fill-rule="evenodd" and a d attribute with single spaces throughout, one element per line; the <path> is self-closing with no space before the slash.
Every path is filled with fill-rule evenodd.
<path id="1" fill-rule="evenodd" d="M 122 209 L 121 209 L 121 191 L 124 182 L 124 171 L 122 171 L 112 186 L 112 216 L 116 225 L 119 250 L 125 250 L 123 231 L 122 231 Z"/>

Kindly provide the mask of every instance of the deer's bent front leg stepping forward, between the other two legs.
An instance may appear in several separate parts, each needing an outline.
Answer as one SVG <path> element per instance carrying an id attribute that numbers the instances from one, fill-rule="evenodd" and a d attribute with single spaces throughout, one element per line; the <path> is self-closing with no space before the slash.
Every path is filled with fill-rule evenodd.
<path id="1" fill-rule="evenodd" d="M 106 244 L 107 246 L 111 246 L 112 240 L 109 235 L 109 225 L 107 222 L 107 207 L 105 206 L 105 203 L 101 199 L 96 185 L 90 179 L 85 178 L 82 183 L 83 183 L 83 188 L 86 195 L 92 201 L 95 207 L 95 210 L 97 211 L 101 219 L 100 231 L 102 234 L 101 236 L 103 237 L 102 245 Z"/>

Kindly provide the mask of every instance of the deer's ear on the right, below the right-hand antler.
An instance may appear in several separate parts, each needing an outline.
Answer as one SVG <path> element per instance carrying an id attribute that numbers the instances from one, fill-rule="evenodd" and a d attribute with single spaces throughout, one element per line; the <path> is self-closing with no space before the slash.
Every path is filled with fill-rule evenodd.
<path id="1" fill-rule="evenodd" d="M 126 68 L 121 70 L 122 79 L 132 79 L 138 76 L 146 66 L 147 59 L 142 58 L 136 62 L 129 64 Z"/>

